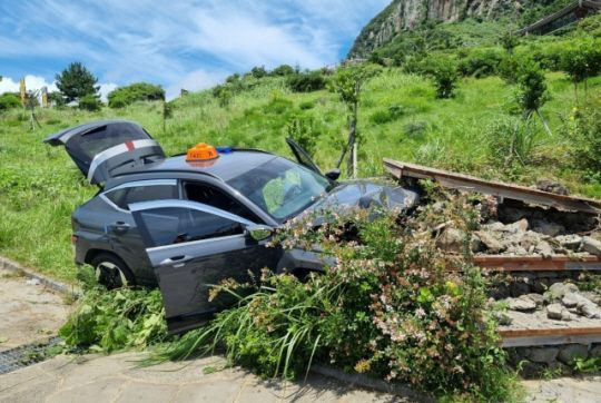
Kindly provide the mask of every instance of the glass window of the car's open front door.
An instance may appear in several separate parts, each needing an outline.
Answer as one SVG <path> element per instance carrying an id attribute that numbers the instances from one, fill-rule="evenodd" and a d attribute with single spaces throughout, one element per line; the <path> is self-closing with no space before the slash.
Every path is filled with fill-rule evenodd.
<path id="1" fill-rule="evenodd" d="M 149 247 L 244 234 L 240 223 L 190 208 L 159 207 L 136 214 Z"/>

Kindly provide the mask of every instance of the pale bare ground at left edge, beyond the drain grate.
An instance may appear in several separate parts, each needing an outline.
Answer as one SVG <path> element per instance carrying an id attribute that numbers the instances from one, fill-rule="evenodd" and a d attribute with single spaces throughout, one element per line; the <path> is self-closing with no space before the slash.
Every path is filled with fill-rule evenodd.
<path id="1" fill-rule="evenodd" d="M 56 335 L 70 306 L 65 297 L 0 268 L 0 352 Z"/>

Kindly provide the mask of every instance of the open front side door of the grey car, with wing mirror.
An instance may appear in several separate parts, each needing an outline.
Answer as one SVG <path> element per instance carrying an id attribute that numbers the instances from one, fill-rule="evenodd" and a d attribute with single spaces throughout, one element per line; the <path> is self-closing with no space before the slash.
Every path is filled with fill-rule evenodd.
<path id="1" fill-rule="evenodd" d="M 231 304 L 227 293 L 209 301 L 211 286 L 233 278 L 247 283 L 263 267 L 275 268 L 279 250 L 246 235 L 254 223 L 189 200 L 131 204 L 155 269 L 170 333 L 201 325 Z"/>

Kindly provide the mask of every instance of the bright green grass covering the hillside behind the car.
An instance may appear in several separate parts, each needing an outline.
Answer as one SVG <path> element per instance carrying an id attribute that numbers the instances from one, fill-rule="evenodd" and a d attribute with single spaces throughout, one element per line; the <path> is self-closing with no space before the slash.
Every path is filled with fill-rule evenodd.
<path id="1" fill-rule="evenodd" d="M 518 46 L 514 53 L 539 55 L 544 66 L 553 60 L 549 55 L 554 53 L 549 53 L 549 49 L 568 49 L 591 40 L 593 48 L 599 49 L 599 39 L 582 36 L 530 39 Z M 503 52 L 499 46 L 462 51 Z M 425 60 L 437 55 L 432 52 L 431 59 Z M 454 57 L 463 56 L 457 52 Z M 519 164 L 506 164 L 504 153 L 510 140 L 504 139 L 511 138 L 508 134 L 516 127 L 520 130 L 522 125 L 515 85 L 503 81 L 496 67 L 487 73 L 472 70 L 462 73 L 454 97 L 437 99 L 428 76 L 407 72 L 411 71 L 407 66 L 383 67 L 364 88 L 358 110 L 359 176 L 383 175 L 382 158 L 388 157 L 526 185 L 542 177 L 556 179 L 575 194 L 601 197 L 594 166 L 592 174 L 583 177 L 573 156 L 574 148 L 584 147 L 594 159 L 594 147 L 599 145 L 579 142 L 571 135 L 574 119 L 587 106 L 600 110 L 601 77 L 588 80 L 587 95 L 580 85 L 580 106 L 575 109 L 572 80 L 560 68 L 549 67 L 545 72 L 549 97 L 540 112 L 551 134 L 533 116 L 528 134 L 521 137 L 525 158 L 520 155 Z M 27 111 L 0 110 L 0 255 L 62 279 L 75 278 L 69 245 L 70 214 L 97 188 L 86 184 L 63 149 L 42 145 L 41 140 L 88 120 L 137 121 L 168 154 L 183 153 L 205 141 L 290 156 L 284 139 L 302 131 L 314 142 L 317 164 L 323 169 L 333 168 L 346 141 L 347 112 L 338 96 L 324 88 L 332 72 L 307 73 L 307 80 L 300 81 L 309 83 L 308 87 L 298 88 L 308 92 L 295 92 L 290 89 L 294 80 L 288 77 L 294 72 L 288 70 L 292 69 L 265 75 L 256 69 L 230 78 L 225 86 L 186 95 L 167 107 L 161 101 L 138 101 L 95 112 L 37 109 L 41 128 L 33 131 Z M 595 116 L 599 115 L 587 120 L 592 140 L 599 137 L 595 135 L 599 131 L 594 131 L 599 130 Z"/>

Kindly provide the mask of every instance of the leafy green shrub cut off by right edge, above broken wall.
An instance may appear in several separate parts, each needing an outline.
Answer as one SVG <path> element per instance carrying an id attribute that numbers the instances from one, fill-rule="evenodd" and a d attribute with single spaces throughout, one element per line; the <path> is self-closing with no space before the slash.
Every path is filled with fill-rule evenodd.
<path id="1" fill-rule="evenodd" d="M 568 129 L 572 165 L 583 179 L 601 183 L 601 101 L 574 109 Z"/>

